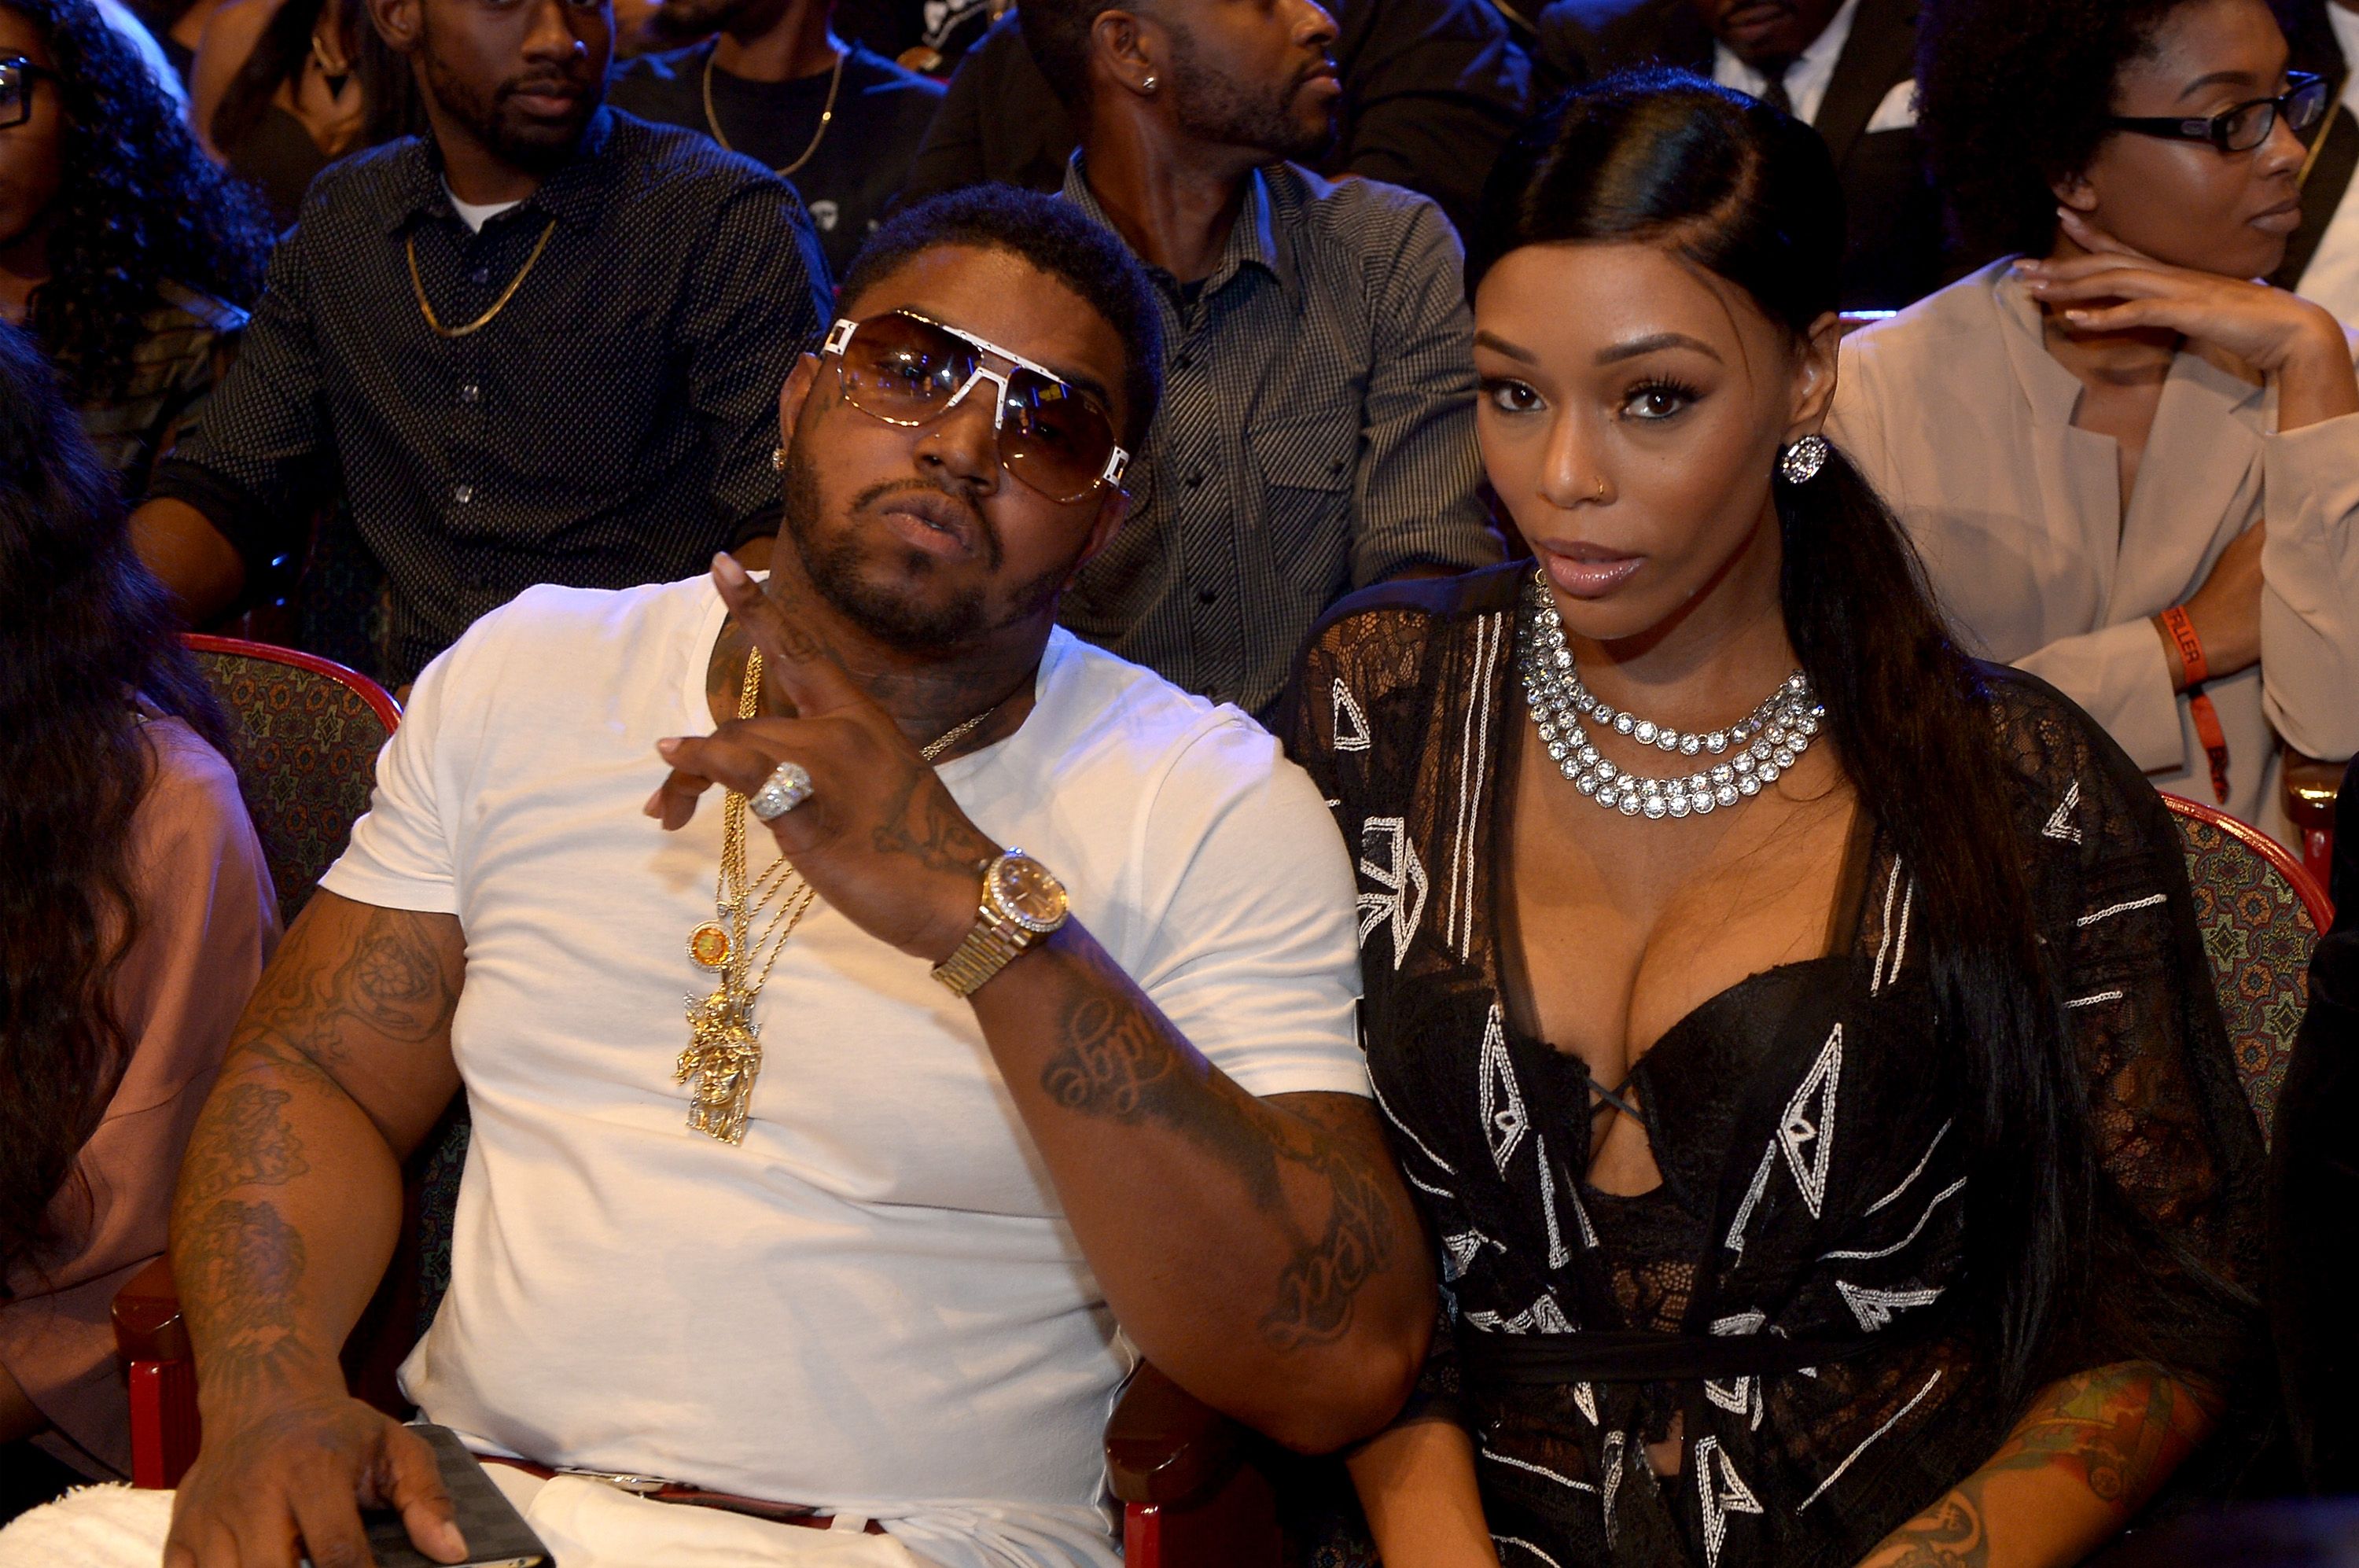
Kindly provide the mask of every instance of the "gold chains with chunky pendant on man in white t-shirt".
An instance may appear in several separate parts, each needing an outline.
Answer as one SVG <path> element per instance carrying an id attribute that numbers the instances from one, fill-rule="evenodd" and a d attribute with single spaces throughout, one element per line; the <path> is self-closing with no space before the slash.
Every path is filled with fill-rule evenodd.
<path id="1" fill-rule="evenodd" d="M 1005 698 L 1000 698 L 1005 700 Z M 920 757 L 934 762 L 946 750 L 998 712 L 998 703 L 972 719 L 934 736 Z M 762 710 L 762 651 L 745 655 L 745 679 L 738 681 L 741 719 Z M 672 1082 L 696 1082 L 689 1092 L 689 1132 L 703 1132 L 722 1144 L 745 1139 L 753 1108 L 753 1080 L 762 1073 L 762 1026 L 753 1004 L 769 983 L 771 964 L 786 950 L 819 894 L 786 856 L 771 861 L 753 887 L 745 884 L 745 797 L 729 790 L 722 797 L 722 868 L 712 889 L 715 917 L 689 931 L 689 957 L 719 971 L 712 995 L 689 995 L 689 1045 L 672 1063 Z M 771 910 L 776 903 L 776 910 Z M 771 910 L 760 936 L 753 927 Z M 762 971 L 755 974 L 755 960 Z"/>

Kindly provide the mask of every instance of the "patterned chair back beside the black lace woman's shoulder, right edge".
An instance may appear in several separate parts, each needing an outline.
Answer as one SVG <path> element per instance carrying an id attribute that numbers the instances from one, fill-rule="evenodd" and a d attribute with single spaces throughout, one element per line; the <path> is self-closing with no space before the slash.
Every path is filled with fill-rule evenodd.
<path id="1" fill-rule="evenodd" d="M 2177 795 L 2163 795 L 2163 804 L 2187 854 L 2196 927 L 2210 955 L 2236 1075 L 2267 1139 L 2276 1092 L 2293 1061 L 2293 1033 L 2309 1002 L 2309 950 L 2333 922 L 2333 910 L 2300 861 L 2269 835 Z"/>

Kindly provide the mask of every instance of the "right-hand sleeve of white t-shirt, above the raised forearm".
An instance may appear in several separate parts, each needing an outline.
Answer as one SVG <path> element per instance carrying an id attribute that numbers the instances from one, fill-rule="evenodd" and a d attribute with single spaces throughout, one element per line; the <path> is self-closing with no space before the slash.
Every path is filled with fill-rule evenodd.
<path id="1" fill-rule="evenodd" d="M 1246 1092 L 1368 1094 L 1352 863 L 1309 776 L 1248 722 L 1165 769 L 1144 818 L 1132 979 Z"/>

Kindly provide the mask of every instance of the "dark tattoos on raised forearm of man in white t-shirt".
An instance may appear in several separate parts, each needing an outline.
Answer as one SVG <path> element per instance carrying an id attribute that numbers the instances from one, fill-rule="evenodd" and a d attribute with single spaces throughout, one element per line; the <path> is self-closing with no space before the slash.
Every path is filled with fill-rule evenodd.
<path id="1" fill-rule="evenodd" d="M 1399 1240 L 1382 1141 L 1260 1103 L 1217 1075 L 1095 943 L 1069 957 L 1078 971 L 1040 1070 L 1043 1092 L 1078 1115 L 1168 1127 L 1227 1165 L 1255 1210 L 1295 1240 L 1262 1337 L 1283 1351 L 1340 1339 L 1354 1297 Z M 1316 1233 L 1286 1200 L 1286 1170 L 1328 1193 Z"/>

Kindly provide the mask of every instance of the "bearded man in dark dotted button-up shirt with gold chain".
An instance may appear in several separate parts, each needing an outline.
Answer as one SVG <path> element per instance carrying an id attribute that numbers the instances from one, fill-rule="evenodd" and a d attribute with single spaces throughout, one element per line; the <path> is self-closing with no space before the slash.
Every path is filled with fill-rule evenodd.
<path id="1" fill-rule="evenodd" d="M 602 106 L 606 0 L 370 14 L 429 134 L 314 182 L 132 526 L 208 620 L 342 493 L 399 686 L 533 582 L 663 582 L 774 535 L 771 406 L 828 269 L 786 182 Z"/>

